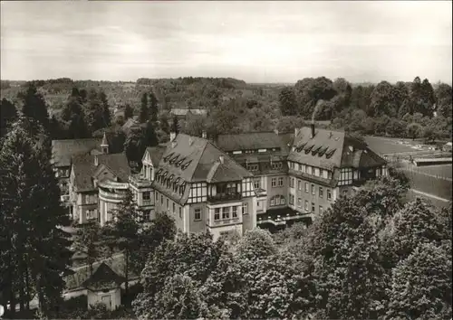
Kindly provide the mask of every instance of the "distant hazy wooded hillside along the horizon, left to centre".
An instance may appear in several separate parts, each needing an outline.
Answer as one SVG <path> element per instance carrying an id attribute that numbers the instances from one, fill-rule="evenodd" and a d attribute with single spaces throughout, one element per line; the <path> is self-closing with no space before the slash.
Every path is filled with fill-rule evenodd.
<path id="1" fill-rule="evenodd" d="M 162 108 L 211 108 L 222 101 L 237 97 L 262 100 L 274 100 L 278 97 L 278 88 L 267 85 L 248 85 L 244 80 L 233 78 L 178 78 L 147 79 L 136 82 L 71 80 L 34 80 L 43 92 L 49 107 L 57 111 L 63 107 L 73 87 L 79 89 L 102 89 L 106 93 L 111 107 L 130 104 L 140 105 L 143 92 L 154 91 Z M 24 89 L 25 81 L 2 80 L 1 98 L 16 101 L 17 94 Z"/>

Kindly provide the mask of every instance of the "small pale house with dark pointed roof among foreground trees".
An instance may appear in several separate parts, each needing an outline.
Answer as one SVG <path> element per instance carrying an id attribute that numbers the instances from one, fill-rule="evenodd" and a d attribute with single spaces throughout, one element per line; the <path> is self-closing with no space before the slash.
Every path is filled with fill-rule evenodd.
<path id="1" fill-rule="evenodd" d="M 88 308 L 101 303 L 107 310 L 116 310 L 121 305 L 121 284 L 126 278 L 113 271 L 105 262 L 86 279 L 82 287 L 87 289 Z"/>

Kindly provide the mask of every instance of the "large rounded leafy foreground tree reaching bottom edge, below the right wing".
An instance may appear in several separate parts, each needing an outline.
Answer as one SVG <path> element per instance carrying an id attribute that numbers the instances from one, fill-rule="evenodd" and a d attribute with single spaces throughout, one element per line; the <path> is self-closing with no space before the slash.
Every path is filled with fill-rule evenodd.
<path id="1" fill-rule="evenodd" d="M 367 216 L 353 198 L 340 198 L 313 222 L 304 263 L 316 284 L 316 308 L 327 318 L 377 318 L 382 313 L 386 278 Z"/>

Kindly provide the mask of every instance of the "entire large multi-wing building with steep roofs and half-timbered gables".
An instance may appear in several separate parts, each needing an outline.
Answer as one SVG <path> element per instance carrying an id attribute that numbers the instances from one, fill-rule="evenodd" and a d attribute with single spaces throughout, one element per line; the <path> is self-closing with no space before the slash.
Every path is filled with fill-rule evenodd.
<path id="1" fill-rule="evenodd" d="M 62 141 L 77 147 L 66 149 Z M 124 154 L 109 153 L 106 136 L 58 140 L 53 148 L 74 220 L 103 225 L 130 190 L 147 219 L 168 212 L 179 230 L 210 231 L 215 239 L 256 226 L 276 230 L 294 221 L 310 223 L 338 197 L 387 174 L 385 160 L 366 144 L 314 125 L 211 140 L 205 133 L 171 134 L 165 146 L 147 148 L 140 174 L 130 173 Z"/>

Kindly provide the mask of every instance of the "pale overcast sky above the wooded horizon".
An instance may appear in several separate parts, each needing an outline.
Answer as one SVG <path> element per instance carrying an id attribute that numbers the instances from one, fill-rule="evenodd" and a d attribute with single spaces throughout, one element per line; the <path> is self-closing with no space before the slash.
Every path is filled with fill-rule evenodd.
<path id="1" fill-rule="evenodd" d="M 451 83 L 452 2 L 1 3 L 1 78 Z"/>

